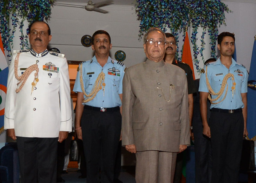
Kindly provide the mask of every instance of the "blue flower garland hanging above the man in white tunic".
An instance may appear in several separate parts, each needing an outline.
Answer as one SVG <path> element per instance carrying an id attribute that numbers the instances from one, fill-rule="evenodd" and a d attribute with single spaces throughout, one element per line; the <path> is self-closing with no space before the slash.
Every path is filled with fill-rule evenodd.
<path id="1" fill-rule="evenodd" d="M 55 0 L 0 0 L 0 30 L 3 47 L 8 51 L 7 57 L 12 57 L 11 48 L 16 28 L 21 32 L 20 48 L 28 49 L 28 37 L 23 34 L 24 21 L 49 20 L 51 6 Z M 9 18 L 11 15 L 11 18 Z M 13 29 L 9 28 L 12 23 Z M 11 33 L 10 33 L 11 32 Z M 26 29 L 28 33 L 28 29 Z"/>

